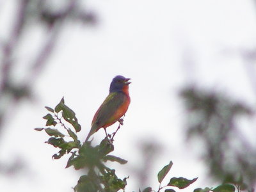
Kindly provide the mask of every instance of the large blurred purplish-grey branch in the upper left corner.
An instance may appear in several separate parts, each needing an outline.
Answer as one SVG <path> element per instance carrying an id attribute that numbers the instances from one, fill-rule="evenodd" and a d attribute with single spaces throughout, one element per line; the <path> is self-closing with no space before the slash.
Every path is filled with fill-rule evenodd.
<path id="1" fill-rule="evenodd" d="M 10 36 L 1 49 L 3 58 L 0 60 L 0 135 L 6 116 L 17 106 L 20 99 L 29 98 L 33 83 L 47 64 L 47 59 L 54 51 L 58 37 L 67 21 L 72 19 L 75 21 L 72 24 L 77 22 L 95 24 L 95 16 L 92 13 L 87 14 L 82 8 L 77 0 L 66 1 L 62 7 L 58 7 L 58 10 L 52 9 L 51 1 L 17 1 L 17 15 L 15 15 Z M 16 60 L 18 54 L 16 51 L 19 50 L 17 48 L 20 46 L 20 40 L 31 41 L 27 36 L 33 24 L 31 20 L 34 22 L 36 20 L 36 24 L 40 24 L 36 25 L 39 28 L 47 28 L 44 44 L 38 45 L 39 51 L 36 56 L 31 55 L 32 62 L 29 65 L 30 68 L 26 70 L 24 79 L 19 83 L 13 83 L 12 72 L 19 62 Z"/>

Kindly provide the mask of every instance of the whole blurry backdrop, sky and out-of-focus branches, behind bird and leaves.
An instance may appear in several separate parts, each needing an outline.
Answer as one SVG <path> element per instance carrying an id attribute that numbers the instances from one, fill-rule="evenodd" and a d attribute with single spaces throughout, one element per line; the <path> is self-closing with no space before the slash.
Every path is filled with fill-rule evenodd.
<path id="1" fill-rule="evenodd" d="M 84 140 L 116 75 L 132 79 L 114 152 L 128 163 L 111 165 L 126 191 L 157 190 L 170 160 L 170 177 L 198 177 L 182 191 L 255 186 L 255 13 L 252 0 L 1 0 L 1 190 L 72 191 L 82 173 L 33 128 L 64 96 Z"/>

